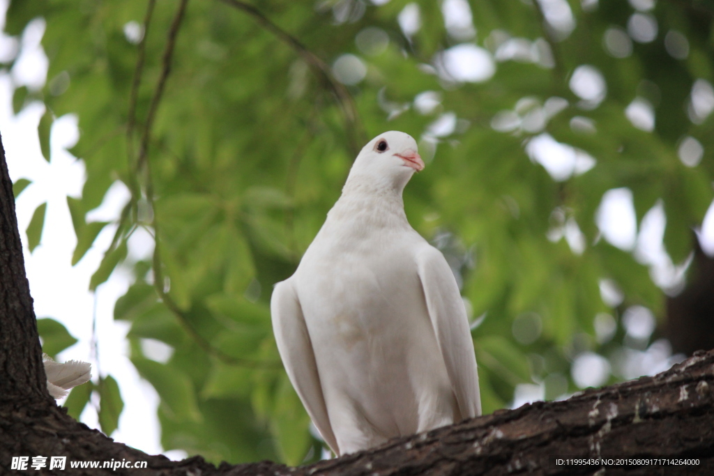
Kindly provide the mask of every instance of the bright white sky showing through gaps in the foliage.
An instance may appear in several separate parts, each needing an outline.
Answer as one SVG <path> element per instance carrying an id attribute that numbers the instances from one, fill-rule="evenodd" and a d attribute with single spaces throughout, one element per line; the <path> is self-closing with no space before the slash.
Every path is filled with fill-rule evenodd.
<path id="1" fill-rule="evenodd" d="M 575 24 L 568 4 L 563 0 L 540 1 L 547 6 L 546 19 L 551 21 L 561 34 L 570 34 Z M 373 0 L 373 3 L 385 2 Z M 4 26 L 6 4 L 7 0 L 0 0 L 2 26 Z M 443 9 L 445 9 L 446 26 L 451 36 L 464 41 L 471 39 L 476 30 L 471 21 L 471 11 L 466 10 L 468 3 L 463 0 L 446 0 Z M 407 36 L 418 31 L 421 27 L 421 17 L 416 4 L 409 4 L 405 8 L 403 14 L 399 16 L 399 24 Z M 373 30 L 371 33 L 375 36 L 378 29 Z M 44 105 L 39 102 L 31 103 L 17 116 L 12 111 L 12 93 L 15 86 L 26 85 L 31 89 L 38 89 L 44 86 L 46 81 L 47 59 L 39 45 L 43 33 L 44 21 L 37 20 L 28 26 L 21 41 L 0 35 L 0 59 L 14 57 L 19 49 L 19 59 L 14 69 L 0 71 L 0 132 L 11 178 L 13 181 L 19 178 L 28 178 L 32 181 L 16 202 L 23 240 L 26 240 L 24 230 L 36 207 L 41 203 L 48 203 L 40 245 L 32 254 L 26 246 L 24 249 L 35 312 L 38 318 L 51 317 L 64 323 L 71 335 L 79 339 L 79 343 L 61 353 L 58 360 L 91 361 L 95 379 L 97 373 L 101 373 L 103 376 L 112 375 L 118 380 L 124 399 L 124 412 L 119 420 L 119 429 L 112 437 L 150 454 L 156 454 L 163 451 L 159 443 L 159 422 L 156 417 L 159 397 L 151 385 L 139 378 L 136 369 L 127 358 L 128 345 L 125 336 L 129 326 L 115 322 L 112 318 L 116 299 L 124 294 L 129 286 L 129 273 L 119 268 L 98 288 L 96 294 L 93 295 L 88 291 L 91 274 L 99 265 L 102 253 L 108 247 L 115 228 L 105 228 L 86 256 L 77 265 L 71 266 L 71 255 L 76 245 L 76 238 L 66 206 L 66 196 L 81 196 L 81 188 L 85 181 L 84 163 L 66 151 L 66 148 L 71 148 L 79 138 L 77 118 L 71 115 L 63 116 L 54 123 L 51 131 L 51 161 L 47 163 L 41 156 L 36 131 L 39 118 L 44 113 Z M 625 35 L 623 36 L 625 40 L 630 41 L 624 32 L 621 33 Z M 639 41 L 636 33 L 637 31 L 630 32 L 630 36 Z M 545 65 L 548 61 L 552 61 L 549 59 L 548 51 L 541 51 L 542 45 L 536 44 L 537 41 L 531 44 L 524 39 L 494 39 L 494 41 L 501 40 L 503 40 L 501 46 L 493 57 L 489 51 L 476 46 L 473 42 L 453 46 L 444 52 L 441 60 L 437 61 L 443 68 L 440 74 L 445 74 L 444 77 L 451 80 L 479 82 L 493 75 L 497 61 L 509 61 L 513 58 L 521 58 L 523 55 L 530 55 L 528 57 L 531 61 Z M 625 53 L 620 50 L 622 49 L 618 49 L 615 53 L 626 53 L 625 50 L 623 50 Z M 351 81 L 357 83 L 364 76 L 361 72 L 362 66 L 360 59 L 349 55 L 338 59 L 334 68 L 336 75 L 343 76 L 346 83 Z M 580 66 L 572 78 L 570 88 L 583 99 L 585 111 L 588 107 L 597 106 L 597 103 L 605 97 L 607 93 L 605 81 L 599 71 L 592 66 Z M 427 93 L 430 96 L 426 97 L 426 93 L 417 96 L 416 106 L 419 106 L 420 98 L 421 103 L 427 99 L 437 103 L 441 101 L 438 93 L 433 91 Z M 655 118 L 648 103 L 643 101 L 633 101 L 633 104 L 630 104 L 628 110 L 623 113 L 636 127 L 651 130 Z M 523 131 L 537 133 L 543 130 L 550 115 L 558 113 L 563 108 L 563 102 L 567 106 L 567 102 L 562 98 L 550 98 L 542 105 L 532 100 L 530 103 L 519 102 L 514 111 L 499 113 L 494 118 L 493 127 L 497 130 L 503 128 L 503 131 L 522 128 Z M 711 113 L 714 107 L 714 93 L 711 92 L 709 83 L 698 82 L 698 86 L 693 88 L 692 103 L 693 120 Z M 712 107 L 709 107 L 710 104 Z M 431 134 L 433 138 L 448 136 L 453 133 L 457 125 L 456 115 L 446 112 L 428 128 L 426 134 Z M 595 130 L 595 126 L 588 122 L 587 118 L 578 118 L 577 121 L 574 118 L 571 126 L 585 128 L 588 131 Z M 533 136 L 526 151 L 534 162 L 544 166 L 553 179 L 558 181 L 566 180 L 574 174 L 584 173 L 595 166 L 595 158 L 567 144 L 558 143 L 547 133 Z M 685 165 L 695 166 L 701 159 L 703 149 L 695 139 L 685 138 L 679 153 Z M 121 183 L 115 183 L 107 193 L 104 203 L 92 211 L 87 218 L 90 221 L 116 220 L 128 198 L 126 187 Z M 552 236 L 554 239 L 565 237 L 574 253 L 582 253 L 585 242 L 577 223 L 565 215 L 562 223 L 562 228 L 552 231 Z M 661 203 L 653 207 L 638 227 L 632 193 L 627 188 L 613 189 L 603 196 L 597 223 L 605 240 L 625 250 L 633 250 L 640 262 L 650 265 L 655 283 L 663 288 L 676 288 L 681 283 L 683 268 L 671 262 L 662 244 L 665 214 Z M 714 255 L 714 204 L 710 206 L 705 216 L 700 240 L 703 248 Z M 153 243 L 148 233 L 141 231 L 134 233 L 129 242 L 130 258 L 146 257 L 150 255 L 152 249 Z M 94 316 L 96 316 L 99 349 L 98 361 L 92 359 L 91 353 L 91 329 Z M 165 349 L 162 351 L 162 348 L 155 343 L 153 347 L 151 343 L 147 344 L 147 352 L 153 349 L 157 360 L 168 357 Z M 655 345 L 652 348 L 654 347 Z M 651 353 L 654 355 L 659 352 L 661 358 L 655 356 L 659 360 L 650 356 L 650 360 L 656 365 L 643 364 L 633 370 L 633 376 L 650 373 L 654 368 L 658 368 L 657 365 L 662 365 L 661 363 L 667 360 L 668 354 L 658 349 L 659 347 L 655 348 Z M 647 358 L 647 355 L 640 356 L 640 360 Z M 607 363 L 603 363 L 600 356 L 588 354 L 582 357 L 578 364 L 582 367 L 582 371 L 579 371 L 578 375 L 593 374 L 598 369 L 605 377 L 609 375 L 609 368 L 605 368 Z M 574 365 L 574 368 L 578 365 Z M 578 375 L 574 375 L 576 381 Z M 588 385 L 593 383 L 588 382 Z M 516 391 L 514 405 L 543 398 L 542 385 L 520 387 Z M 81 421 L 90 427 L 99 426 L 94 407 L 91 405 L 87 407 L 81 415 Z M 181 451 L 169 453 L 169 457 L 183 457 Z"/>

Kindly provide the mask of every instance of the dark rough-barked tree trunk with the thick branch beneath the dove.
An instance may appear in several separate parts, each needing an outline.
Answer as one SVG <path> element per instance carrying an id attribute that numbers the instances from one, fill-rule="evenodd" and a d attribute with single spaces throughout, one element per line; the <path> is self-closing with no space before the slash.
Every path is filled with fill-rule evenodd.
<path id="1" fill-rule="evenodd" d="M 25 276 L 12 184 L 0 138 L 0 468 L 13 457 L 64 456 L 57 475 L 505 475 L 714 474 L 714 351 L 696 353 L 653 378 L 587 390 L 562 402 L 499 410 L 458 425 L 387 442 L 314 465 L 273 462 L 214 467 L 201 457 L 146 455 L 76 422 L 46 390 Z M 661 457 L 697 465 L 555 464 L 555 457 Z M 77 462 L 120 464 L 73 468 Z M 126 467 L 146 462 L 146 469 Z M 29 467 L 29 465 L 28 465 Z M 605 468 L 605 471 L 601 470 Z"/>

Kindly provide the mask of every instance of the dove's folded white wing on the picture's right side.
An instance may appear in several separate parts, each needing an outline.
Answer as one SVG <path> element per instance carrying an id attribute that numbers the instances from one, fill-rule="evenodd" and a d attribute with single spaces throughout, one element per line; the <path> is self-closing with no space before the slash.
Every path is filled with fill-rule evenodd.
<path id="1" fill-rule="evenodd" d="M 441 252 L 432 246 L 422 248 L 416 260 L 426 308 L 461 417 L 481 415 L 476 355 L 456 278 Z"/>

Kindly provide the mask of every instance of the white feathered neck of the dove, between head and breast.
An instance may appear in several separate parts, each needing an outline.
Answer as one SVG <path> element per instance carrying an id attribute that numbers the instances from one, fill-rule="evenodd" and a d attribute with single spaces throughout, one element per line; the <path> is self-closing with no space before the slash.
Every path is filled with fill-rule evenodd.
<path id="1" fill-rule="evenodd" d="M 383 228 L 411 228 L 404 213 L 401 189 L 349 180 L 342 196 L 328 213 L 328 221 L 339 223 L 348 233 Z M 346 230 L 347 231 L 347 230 Z"/>

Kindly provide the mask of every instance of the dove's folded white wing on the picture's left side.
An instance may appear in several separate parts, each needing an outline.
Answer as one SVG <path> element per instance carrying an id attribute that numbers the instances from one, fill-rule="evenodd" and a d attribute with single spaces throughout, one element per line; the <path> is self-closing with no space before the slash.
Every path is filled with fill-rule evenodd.
<path id="1" fill-rule="evenodd" d="M 273 333 L 278 352 L 308 415 L 336 455 L 340 454 L 330 425 L 320 375 L 300 301 L 289 280 L 278 283 L 271 298 Z"/>

